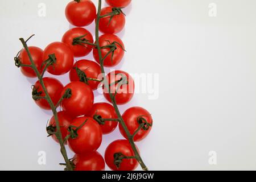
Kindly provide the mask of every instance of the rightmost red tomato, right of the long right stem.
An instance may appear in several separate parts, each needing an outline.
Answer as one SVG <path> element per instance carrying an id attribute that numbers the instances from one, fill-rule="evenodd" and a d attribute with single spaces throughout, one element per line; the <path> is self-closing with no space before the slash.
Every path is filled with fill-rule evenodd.
<path id="1" fill-rule="evenodd" d="M 127 109 L 125 111 L 125 113 L 123 113 L 122 118 L 123 121 L 125 121 L 125 124 L 128 128 L 128 130 L 130 131 L 130 134 L 134 134 L 134 132 L 138 129 L 139 127 L 139 123 L 138 123 L 138 118 L 142 117 L 144 118 L 148 123 L 150 123 L 150 125 L 152 125 L 152 117 L 151 114 L 148 113 L 148 111 L 146 109 L 143 109 L 142 107 L 131 107 L 129 109 Z M 141 122 L 145 123 L 144 121 L 141 120 Z M 134 141 L 135 142 L 139 142 L 142 139 L 144 139 L 145 137 L 147 137 L 148 133 L 150 133 L 151 131 L 151 126 L 146 126 L 144 125 L 145 128 L 148 128 L 147 130 L 139 130 L 139 132 L 134 136 Z M 123 130 L 123 127 L 120 125 L 119 123 L 119 130 L 121 132 L 121 134 L 123 135 L 123 137 L 125 137 L 127 139 L 127 135 L 125 133 L 125 130 Z"/>

